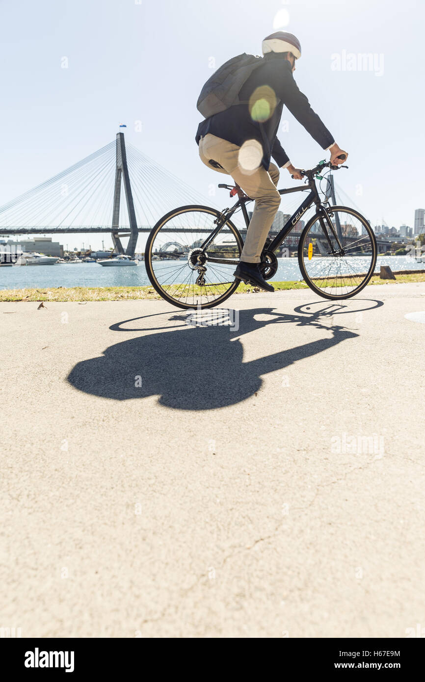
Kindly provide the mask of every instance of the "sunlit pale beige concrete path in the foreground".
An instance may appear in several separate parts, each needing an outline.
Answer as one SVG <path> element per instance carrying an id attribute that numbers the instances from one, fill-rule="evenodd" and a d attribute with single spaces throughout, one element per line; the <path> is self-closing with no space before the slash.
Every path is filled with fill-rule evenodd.
<path id="1" fill-rule="evenodd" d="M 425 284 L 227 303 L 0 304 L 1 627 L 425 627 Z"/>

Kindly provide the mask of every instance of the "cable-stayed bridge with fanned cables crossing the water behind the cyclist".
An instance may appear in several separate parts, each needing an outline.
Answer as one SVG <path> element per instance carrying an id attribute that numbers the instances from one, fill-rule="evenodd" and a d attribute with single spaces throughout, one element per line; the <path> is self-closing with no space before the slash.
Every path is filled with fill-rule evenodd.
<path id="1" fill-rule="evenodd" d="M 210 188 L 214 181 L 220 178 L 211 174 Z M 342 190 L 335 183 L 334 190 L 334 203 L 347 203 L 340 201 Z M 291 200 L 285 198 L 284 203 L 285 211 L 291 209 Z M 226 192 L 206 198 L 133 145 L 126 145 L 119 132 L 102 149 L 1 206 L 0 235 L 110 233 L 115 252 L 134 256 L 139 233 L 149 233 L 165 213 L 188 204 L 222 209 L 229 198 Z M 350 200 L 349 205 L 353 205 Z M 232 221 L 246 233 L 241 216 L 234 214 Z M 179 232 L 179 228 L 169 231 Z M 185 225 L 184 231 L 190 228 Z M 194 226 L 194 233 L 200 231 Z M 121 243 L 124 237 L 128 237 L 126 250 Z"/>

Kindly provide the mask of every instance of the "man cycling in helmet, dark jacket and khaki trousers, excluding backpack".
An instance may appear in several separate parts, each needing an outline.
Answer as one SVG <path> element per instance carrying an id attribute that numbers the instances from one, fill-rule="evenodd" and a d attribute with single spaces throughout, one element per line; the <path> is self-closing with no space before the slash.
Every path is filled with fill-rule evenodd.
<path id="1" fill-rule="evenodd" d="M 294 179 L 302 179 L 280 145 L 276 133 L 283 105 L 304 125 L 323 149 L 330 151 L 332 164 L 347 158 L 334 137 L 314 113 L 306 95 L 299 91 L 293 72 L 301 57 L 301 45 L 292 33 L 277 31 L 263 40 L 263 62 L 252 71 L 239 91 L 240 104 L 230 106 L 201 121 L 196 133 L 199 155 L 209 168 L 226 173 L 252 199 L 254 211 L 246 234 L 235 278 L 274 291 L 259 268 L 261 251 L 280 204 L 276 190 L 280 168 L 287 168 Z M 345 154 L 345 159 L 338 155 Z"/>

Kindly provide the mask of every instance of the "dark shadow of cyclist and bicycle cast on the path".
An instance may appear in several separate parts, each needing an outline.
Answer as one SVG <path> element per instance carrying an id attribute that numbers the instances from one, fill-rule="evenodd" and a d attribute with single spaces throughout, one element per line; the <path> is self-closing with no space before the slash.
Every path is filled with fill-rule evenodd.
<path id="1" fill-rule="evenodd" d="M 377 306 L 382 305 L 381 301 L 374 302 Z M 306 306 L 299 306 L 294 312 Z M 330 307 L 334 318 L 339 313 L 334 310 L 335 306 Z M 154 333 L 114 344 L 101 357 L 76 364 L 68 375 L 68 381 L 79 391 L 111 400 L 158 396 L 158 402 L 171 409 L 218 409 L 252 396 L 260 389 L 262 376 L 359 336 L 341 325 L 324 324 L 321 321 L 321 318 L 326 318 L 323 309 L 307 314 L 302 311 L 299 314 L 280 314 L 273 308 L 238 312 L 239 328 L 233 331 L 231 327 L 222 325 L 196 326 L 196 319 L 195 326 L 188 325 L 186 312 L 166 314 L 168 325 L 153 327 Z M 271 316 L 272 319 L 256 319 L 258 316 Z M 122 328 L 143 319 L 123 321 L 112 325 L 111 329 L 146 331 L 143 327 Z M 170 326 L 170 323 L 181 324 Z M 331 336 L 244 362 L 241 336 L 276 323 L 312 325 L 327 334 L 330 332 Z M 158 332 L 158 329 L 163 331 Z"/>

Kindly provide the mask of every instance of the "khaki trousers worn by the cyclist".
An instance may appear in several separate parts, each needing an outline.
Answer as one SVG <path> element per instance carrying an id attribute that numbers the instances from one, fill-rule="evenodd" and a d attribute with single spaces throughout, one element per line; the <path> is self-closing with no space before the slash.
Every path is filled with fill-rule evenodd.
<path id="1" fill-rule="evenodd" d="M 203 163 L 208 168 L 218 170 L 218 173 L 231 175 L 245 194 L 255 199 L 254 211 L 241 253 L 241 261 L 246 263 L 260 262 L 261 251 L 280 205 L 280 194 L 276 190 L 279 169 L 270 164 L 267 173 L 264 166 L 255 167 L 261 163 L 260 147 L 256 140 L 252 140 L 251 147 L 247 146 L 247 143 L 244 144 L 244 148 L 238 147 L 211 133 L 199 140 L 199 156 Z M 210 159 L 218 162 L 222 168 L 214 168 L 209 163 Z M 248 170 L 247 166 L 254 168 Z"/>

